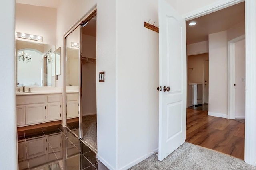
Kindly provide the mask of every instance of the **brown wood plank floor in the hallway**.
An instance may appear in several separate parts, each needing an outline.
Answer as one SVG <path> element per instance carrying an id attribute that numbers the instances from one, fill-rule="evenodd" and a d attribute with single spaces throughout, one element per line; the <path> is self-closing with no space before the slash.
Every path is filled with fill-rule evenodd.
<path id="1" fill-rule="evenodd" d="M 244 160 L 244 123 L 187 109 L 186 141 Z"/>

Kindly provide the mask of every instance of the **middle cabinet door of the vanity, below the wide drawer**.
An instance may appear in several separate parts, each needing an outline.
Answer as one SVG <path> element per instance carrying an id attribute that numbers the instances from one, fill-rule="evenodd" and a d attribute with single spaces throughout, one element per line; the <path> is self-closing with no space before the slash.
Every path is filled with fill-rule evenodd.
<path id="1" fill-rule="evenodd" d="M 45 104 L 30 104 L 25 106 L 26 124 L 43 123 L 46 121 Z"/>

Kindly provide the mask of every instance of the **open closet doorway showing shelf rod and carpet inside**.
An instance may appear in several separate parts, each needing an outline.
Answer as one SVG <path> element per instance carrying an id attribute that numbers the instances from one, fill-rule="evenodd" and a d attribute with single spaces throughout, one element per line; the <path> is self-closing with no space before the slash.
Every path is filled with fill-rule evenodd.
<path id="1" fill-rule="evenodd" d="M 94 152 L 97 151 L 97 106 L 96 106 L 96 19 L 82 23 L 82 141 Z"/>

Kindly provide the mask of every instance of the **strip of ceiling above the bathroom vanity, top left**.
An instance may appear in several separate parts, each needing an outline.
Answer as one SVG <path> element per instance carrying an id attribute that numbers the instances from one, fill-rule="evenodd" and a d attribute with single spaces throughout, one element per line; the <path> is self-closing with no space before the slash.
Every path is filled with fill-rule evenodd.
<path id="1" fill-rule="evenodd" d="M 16 0 L 16 2 L 20 4 L 57 8 L 60 0 Z"/>

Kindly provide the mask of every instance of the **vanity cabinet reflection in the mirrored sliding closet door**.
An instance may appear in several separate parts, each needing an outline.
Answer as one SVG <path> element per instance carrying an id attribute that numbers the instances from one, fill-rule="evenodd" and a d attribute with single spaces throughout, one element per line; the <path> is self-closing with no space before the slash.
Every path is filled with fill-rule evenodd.
<path id="1" fill-rule="evenodd" d="M 67 119 L 78 117 L 78 93 L 67 93 Z"/>

